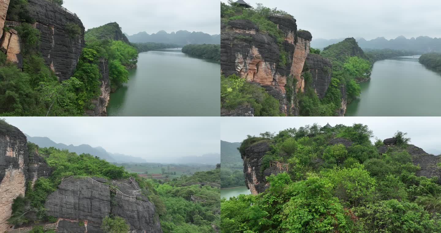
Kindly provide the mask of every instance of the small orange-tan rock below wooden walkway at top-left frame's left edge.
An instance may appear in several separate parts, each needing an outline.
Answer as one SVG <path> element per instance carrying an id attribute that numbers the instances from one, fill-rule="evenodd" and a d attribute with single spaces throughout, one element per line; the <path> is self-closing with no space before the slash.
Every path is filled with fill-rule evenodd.
<path id="1" fill-rule="evenodd" d="M 16 64 L 18 68 L 23 67 L 22 40 L 14 29 L 3 32 L 0 39 L 0 50 L 7 55 L 7 60 Z"/>

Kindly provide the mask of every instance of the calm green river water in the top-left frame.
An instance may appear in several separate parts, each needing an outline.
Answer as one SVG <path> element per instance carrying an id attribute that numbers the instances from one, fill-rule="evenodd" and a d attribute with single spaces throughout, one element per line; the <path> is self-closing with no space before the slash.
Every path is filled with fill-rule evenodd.
<path id="1" fill-rule="evenodd" d="M 110 94 L 108 116 L 220 116 L 220 71 L 180 49 L 139 53 L 128 83 Z"/>

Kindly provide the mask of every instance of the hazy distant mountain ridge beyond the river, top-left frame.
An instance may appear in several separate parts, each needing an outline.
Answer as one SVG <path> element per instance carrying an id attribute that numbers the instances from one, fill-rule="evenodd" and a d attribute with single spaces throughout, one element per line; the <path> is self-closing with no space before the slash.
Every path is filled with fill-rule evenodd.
<path id="1" fill-rule="evenodd" d="M 145 43 L 145 42 L 155 42 L 155 43 L 168 43 L 177 45 L 188 45 L 188 44 L 221 44 L 221 35 L 215 34 L 210 35 L 203 32 L 189 32 L 187 30 L 179 30 L 176 33 L 167 33 L 164 30 L 158 31 L 157 33 L 148 34 L 145 31 L 139 32 L 127 37 L 130 42 L 133 43 Z"/>

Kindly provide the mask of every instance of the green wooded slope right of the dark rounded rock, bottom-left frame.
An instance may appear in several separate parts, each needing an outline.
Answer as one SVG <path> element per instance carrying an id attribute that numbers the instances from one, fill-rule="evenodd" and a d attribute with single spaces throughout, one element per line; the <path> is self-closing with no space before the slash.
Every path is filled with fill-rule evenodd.
<path id="1" fill-rule="evenodd" d="M 219 174 L 219 169 L 215 169 L 157 184 L 158 195 L 166 206 L 160 212 L 164 233 L 214 232 L 211 225 L 220 222 Z"/>

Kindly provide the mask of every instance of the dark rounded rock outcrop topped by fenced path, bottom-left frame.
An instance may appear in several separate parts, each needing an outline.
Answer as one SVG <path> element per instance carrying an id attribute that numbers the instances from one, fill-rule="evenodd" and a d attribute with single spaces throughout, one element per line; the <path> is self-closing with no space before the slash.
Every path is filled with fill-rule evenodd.
<path id="1" fill-rule="evenodd" d="M 99 182 L 108 181 L 93 178 Z M 118 181 L 118 188 L 121 192 L 132 195 L 128 191 L 130 189 L 128 182 L 130 181 Z M 115 214 L 126 220 L 132 233 L 162 233 L 154 204 L 142 196 L 141 199 L 143 200 L 132 202 L 117 196 L 112 197 L 111 192 L 105 187 L 92 184 L 85 179 L 70 178 L 63 180 L 58 189 L 48 196 L 45 208 L 48 215 L 64 221 L 62 230 L 66 229 L 66 231 L 61 232 L 102 233 L 100 229 L 102 219 Z M 78 227 L 80 221 L 85 225 Z"/>

